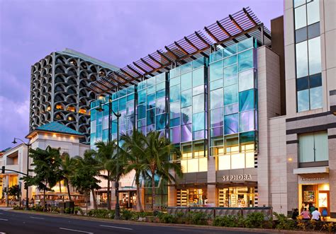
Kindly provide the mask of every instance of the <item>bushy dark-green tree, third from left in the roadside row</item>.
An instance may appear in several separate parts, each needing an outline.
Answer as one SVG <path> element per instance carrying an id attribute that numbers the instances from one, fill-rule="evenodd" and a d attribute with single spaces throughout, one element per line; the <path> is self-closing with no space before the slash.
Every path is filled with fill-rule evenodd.
<path id="1" fill-rule="evenodd" d="M 76 187 L 79 192 L 85 194 L 86 200 L 86 213 L 88 194 L 91 191 L 94 198 L 94 209 L 97 209 L 95 189 L 100 189 L 98 185 L 100 180 L 97 179 L 100 172 L 99 163 L 94 158 L 96 152 L 93 150 L 85 151 L 84 158 L 76 156 L 74 173 L 69 177 L 69 182 Z"/>

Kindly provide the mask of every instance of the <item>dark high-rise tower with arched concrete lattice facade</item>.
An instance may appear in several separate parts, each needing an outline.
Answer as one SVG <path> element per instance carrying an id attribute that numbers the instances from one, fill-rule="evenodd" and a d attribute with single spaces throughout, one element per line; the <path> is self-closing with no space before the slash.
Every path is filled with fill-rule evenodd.
<path id="1" fill-rule="evenodd" d="M 82 142 L 89 143 L 89 108 L 96 95 L 88 83 L 117 69 L 72 49 L 52 52 L 35 63 L 30 74 L 29 130 L 60 122 L 85 134 Z"/>

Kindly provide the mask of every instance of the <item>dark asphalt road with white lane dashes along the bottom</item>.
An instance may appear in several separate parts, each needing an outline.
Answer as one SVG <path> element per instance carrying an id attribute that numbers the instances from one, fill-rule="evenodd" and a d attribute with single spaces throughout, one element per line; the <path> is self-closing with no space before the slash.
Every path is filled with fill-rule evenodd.
<path id="1" fill-rule="evenodd" d="M 242 231 L 216 230 L 173 226 L 150 226 L 76 218 L 43 216 L 35 213 L 18 213 L 0 209 L 0 234 L 93 234 L 93 233 L 243 233 Z M 249 232 L 246 232 L 249 233 Z"/>

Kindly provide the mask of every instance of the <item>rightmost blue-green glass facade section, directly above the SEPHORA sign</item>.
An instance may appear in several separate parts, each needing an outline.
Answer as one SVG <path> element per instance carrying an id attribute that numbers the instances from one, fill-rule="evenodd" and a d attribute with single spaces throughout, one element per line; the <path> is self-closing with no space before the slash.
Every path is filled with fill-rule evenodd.
<path id="1" fill-rule="evenodd" d="M 253 38 L 211 54 L 210 149 L 218 170 L 254 168 L 257 62 Z"/>

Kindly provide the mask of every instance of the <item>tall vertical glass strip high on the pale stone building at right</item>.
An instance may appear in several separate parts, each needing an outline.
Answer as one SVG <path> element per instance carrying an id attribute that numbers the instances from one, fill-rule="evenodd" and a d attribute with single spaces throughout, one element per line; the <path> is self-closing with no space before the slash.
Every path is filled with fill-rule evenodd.
<path id="1" fill-rule="evenodd" d="M 297 111 L 322 107 L 320 6 L 318 0 L 294 0 Z"/>

